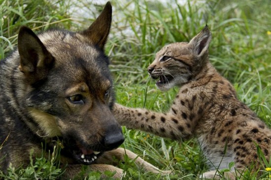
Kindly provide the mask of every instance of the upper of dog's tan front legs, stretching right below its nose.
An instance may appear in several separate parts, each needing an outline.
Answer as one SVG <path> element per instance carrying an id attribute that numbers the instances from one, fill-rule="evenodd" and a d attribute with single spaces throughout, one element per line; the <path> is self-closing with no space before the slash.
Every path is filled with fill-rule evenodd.
<path id="1" fill-rule="evenodd" d="M 117 159 L 117 161 L 119 160 L 125 161 L 126 155 L 128 156 L 129 159 L 132 159 L 135 161 L 135 164 L 137 167 L 143 168 L 146 172 L 153 172 L 157 174 L 160 173 L 161 175 L 168 175 L 172 173 L 171 171 L 161 171 L 159 168 L 143 160 L 134 152 L 130 150 L 125 150 L 123 148 L 118 148 L 116 150 L 110 150 L 110 151 L 104 152 L 103 156 L 99 158 L 98 163 L 109 163 L 109 164 L 117 165 L 114 159 Z"/>

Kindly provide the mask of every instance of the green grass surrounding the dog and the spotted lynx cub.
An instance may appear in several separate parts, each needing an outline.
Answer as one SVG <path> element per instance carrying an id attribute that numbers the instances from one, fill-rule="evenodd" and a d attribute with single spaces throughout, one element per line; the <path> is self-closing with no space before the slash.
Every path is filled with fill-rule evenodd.
<path id="1" fill-rule="evenodd" d="M 16 34 L 22 25 L 36 31 L 53 27 L 82 30 L 91 24 L 102 9 L 100 5 L 83 0 L 76 4 L 71 4 L 70 1 L 64 3 L 63 0 L 56 4 L 45 0 L 0 2 L 1 59 L 16 46 Z M 190 0 L 185 5 L 177 4 L 177 0 L 170 2 L 162 4 L 147 0 L 112 0 L 113 23 L 106 52 L 111 58 L 110 68 L 115 79 L 117 102 L 129 107 L 145 107 L 166 112 L 178 89 L 168 92 L 157 90 L 154 82 L 149 79 L 146 68 L 154 60 L 155 52 L 165 44 L 189 41 L 207 23 L 212 31 L 210 61 L 234 84 L 239 99 L 271 127 L 269 0 L 206 0 L 205 3 Z M 93 18 L 71 19 L 68 11 L 71 5 L 89 7 L 89 14 Z M 135 8 L 129 8 L 132 6 Z M 144 173 L 138 170 L 132 161 L 127 161 L 125 165 L 120 164 L 127 173 L 127 180 L 194 180 L 208 169 L 206 159 L 195 139 L 180 144 L 125 127 L 123 131 L 126 141 L 122 147 L 136 152 L 163 170 L 176 170 L 175 175 L 162 178 L 160 175 Z M 32 164 L 30 170 L 10 170 L 6 178 L 15 175 L 18 175 L 17 178 L 26 178 L 25 173 L 33 170 L 34 174 L 50 172 L 50 159 L 47 162 L 42 159 L 37 162 L 45 164 L 45 169 Z M 268 162 L 266 163 L 263 166 L 269 166 Z M 51 178 L 61 175 L 61 172 L 56 172 L 57 169 L 51 169 L 51 172 L 55 173 L 50 175 Z M 48 175 L 47 179 L 50 176 Z M 90 176 L 99 179 L 96 173 Z M 252 180 L 255 176 L 256 174 L 250 174 L 250 171 L 245 172 L 245 179 Z M 262 179 L 266 177 L 264 174 Z"/>

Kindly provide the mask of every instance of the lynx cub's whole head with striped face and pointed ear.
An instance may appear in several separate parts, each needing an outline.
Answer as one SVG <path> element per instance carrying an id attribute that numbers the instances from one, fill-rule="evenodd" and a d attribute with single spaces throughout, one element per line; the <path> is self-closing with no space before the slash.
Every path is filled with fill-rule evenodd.
<path id="1" fill-rule="evenodd" d="M 164 46 L 148 67 L 149 75 L 158 79 L 156 86 L 166 91 L 193 80 L 207 61 L 210 40 L 211 33 L 204 28 L 189 43 L 177 42 Z"/>

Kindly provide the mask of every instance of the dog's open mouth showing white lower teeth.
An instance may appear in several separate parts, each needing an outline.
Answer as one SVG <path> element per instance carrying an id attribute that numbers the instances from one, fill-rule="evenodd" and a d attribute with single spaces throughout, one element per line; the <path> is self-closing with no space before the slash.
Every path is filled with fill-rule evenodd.
<path id="1" fill-rule="evenodd" d="M 88 148 L 83 147 L 83 145 L 76 142 L 76 149 L 73 150 L 73 156 L 75 160 L 84 165 L 93 164 L 96 159 L 102 155 L 101 151 L 95 151 Z"/>

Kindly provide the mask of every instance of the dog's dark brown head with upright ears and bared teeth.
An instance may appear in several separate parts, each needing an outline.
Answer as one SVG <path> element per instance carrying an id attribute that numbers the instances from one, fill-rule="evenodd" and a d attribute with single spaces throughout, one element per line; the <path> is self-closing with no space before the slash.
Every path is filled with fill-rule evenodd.
<path id="1" fill-rule="evenodd" d="M 63 137 L 64 150 L 77 163 L 91 164 L 101 151 L 124 141 L 111 113 L 114 100 L 104 45 L 112 7 L 80 32 L 49 30 L 35 35 L 22 27 L 18 36 L 21 76 L 26 86 L 21 106 L 38 127 L 34 133 Z"/>

